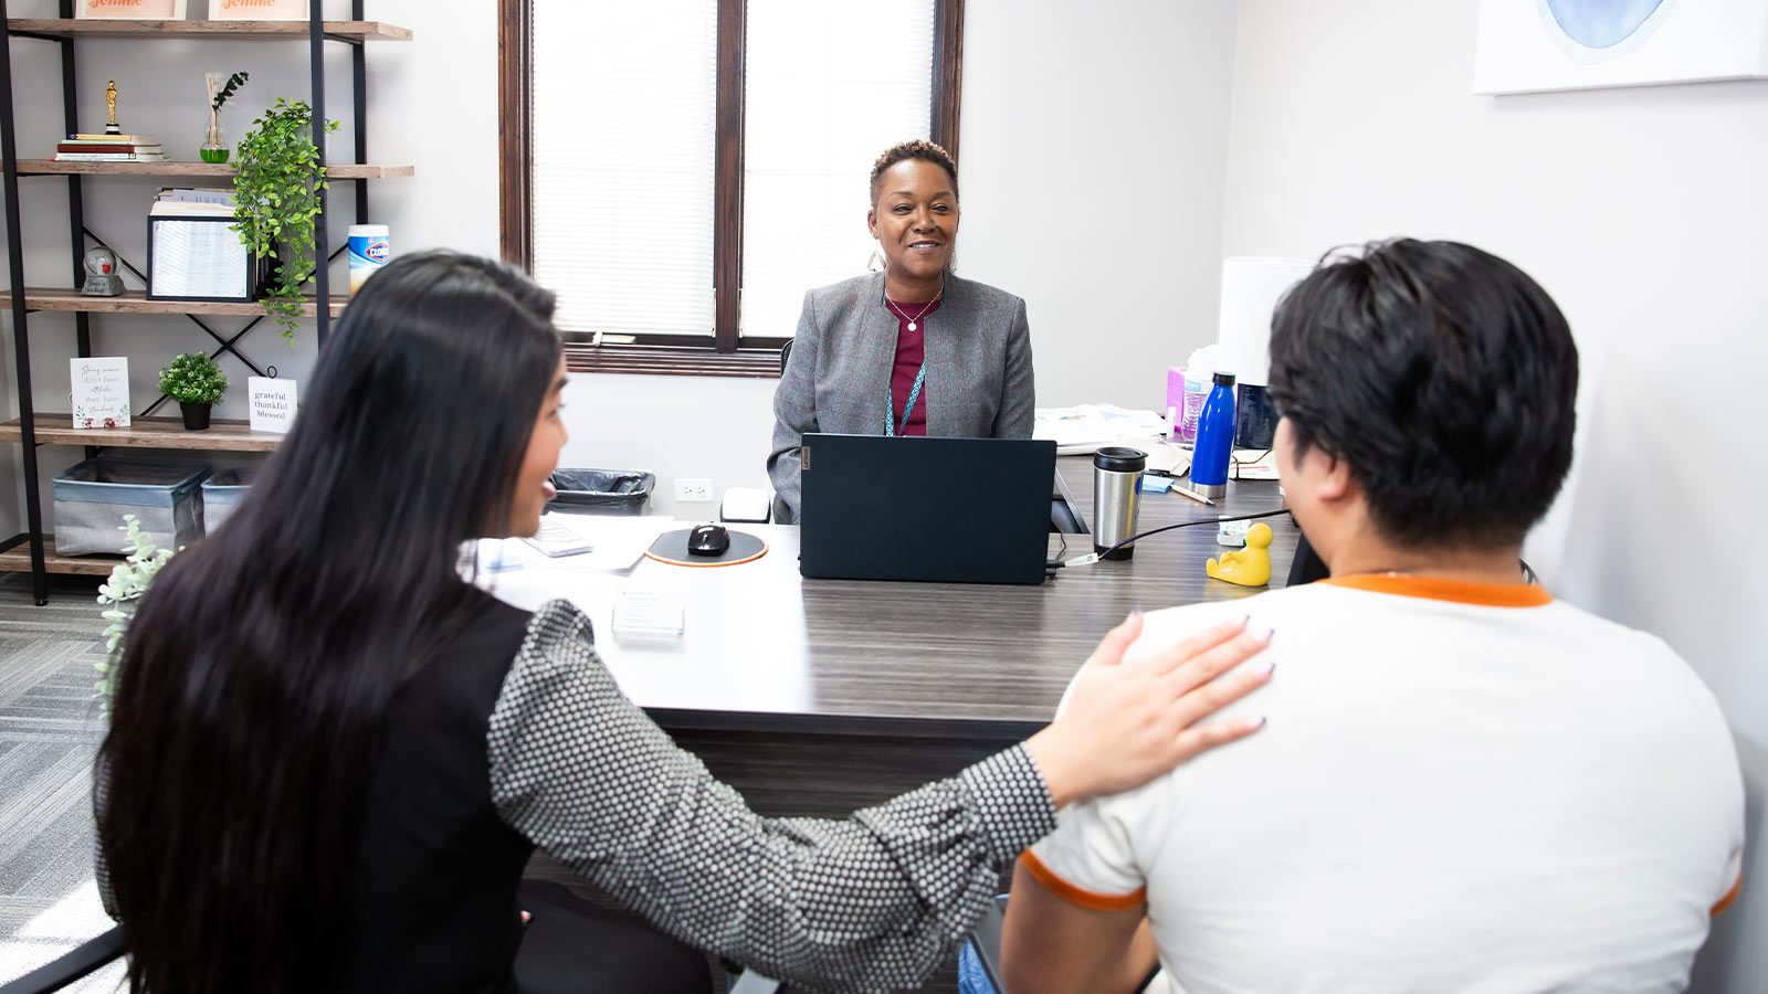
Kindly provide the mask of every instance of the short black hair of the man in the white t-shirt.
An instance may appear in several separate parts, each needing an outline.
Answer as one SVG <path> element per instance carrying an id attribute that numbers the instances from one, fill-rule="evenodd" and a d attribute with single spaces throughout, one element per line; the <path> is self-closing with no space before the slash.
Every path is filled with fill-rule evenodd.
<path id="1" fill-rule="evenodd" d="M 1572 465 L 1577 345 L 1552 297 L 1459 242 L 1328 253 L 1271 324 L 1298 455 L 1345 460 L 1390 541 L 1520 543 Z"/>

